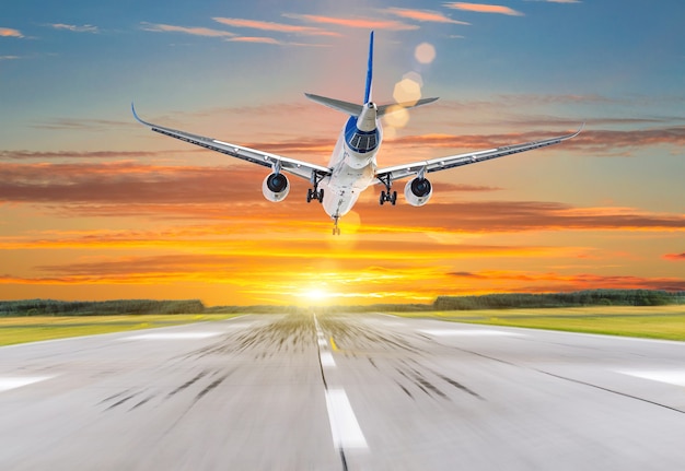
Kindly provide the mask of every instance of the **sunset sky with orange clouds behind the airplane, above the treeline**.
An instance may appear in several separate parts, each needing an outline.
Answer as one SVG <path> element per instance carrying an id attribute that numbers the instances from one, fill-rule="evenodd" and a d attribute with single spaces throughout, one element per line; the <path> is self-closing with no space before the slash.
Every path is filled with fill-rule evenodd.
<path id="1" fill-rule="evenodd" d="M 681 0 L 0 4 L 0 298 L 207 305 L 685 290 Z M 440 99 L 383 122 L 381 167 L 584 131 L 368 189 L 340 221 L 291 177 L 143 119 L 326 165 L 346 117 L 303 93 Z M 388 118 L 390 119 L 390 118 Z M 404 181 L 395 184 L 399 193 Z"/>

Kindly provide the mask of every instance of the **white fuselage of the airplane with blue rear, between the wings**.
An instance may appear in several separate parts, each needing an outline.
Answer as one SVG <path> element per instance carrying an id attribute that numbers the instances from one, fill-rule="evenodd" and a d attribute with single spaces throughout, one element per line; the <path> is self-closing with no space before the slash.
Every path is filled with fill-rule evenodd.
<path id="1" fill-rule="evenodd" d="M 324 211 L 330 217 L 337 220 L 347 214 L 359 195 L 373 184 L 382 136 L 373 103 L 364 105 L 359 118 L 347 120 L 328 163 L 333 173 L 320 184 L 324 189 Z"/>

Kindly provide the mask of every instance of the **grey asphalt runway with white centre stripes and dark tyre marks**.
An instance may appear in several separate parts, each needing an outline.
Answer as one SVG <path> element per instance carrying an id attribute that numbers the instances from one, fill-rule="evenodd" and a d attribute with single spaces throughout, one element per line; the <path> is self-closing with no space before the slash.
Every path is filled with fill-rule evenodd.
<path id="1" fill-rule="evenodd" d="M 243 316 L 0 349 L 0 470 L 681 470 L 685 343 Z"/>

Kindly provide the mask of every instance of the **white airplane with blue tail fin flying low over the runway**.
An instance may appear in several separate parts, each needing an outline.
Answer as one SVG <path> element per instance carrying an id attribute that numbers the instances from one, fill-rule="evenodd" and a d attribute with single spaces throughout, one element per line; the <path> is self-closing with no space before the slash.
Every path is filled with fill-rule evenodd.
<path id="1" fill-rule="evenodd" d="M 385 187 L 381 191 L 380 204 L 387 202 L 395 205 L 397 191 L 392 189 L 393 182 L 413 176 L 414 178 L 405 185 L 404 197 L 409 204 L 421 207 L 430 200 L 433 192 L 432 185 L 426 177 L 429 173 L 555 145 L 574 138 L 584 127 L 583 123 L 578 131 L 557 138 L 379 168 L 376 154 L 383 141 L 380 118 L 402 108 L 409 109 L 428 105 L 438 98 L 378 105 L 371 99 L 372 75 L 373 32 L 371 32 L 369 39 L 369 62 L 363 104 L 359 105 L 310 93 L 304 94 L 318 104 L 348 115 L 327 167 L 154 125 L 142 120 L 136 113 L 132 103 L 131 110 L 133 117 L 152 131 L 269 167 L 271 173 L 266 176 L 262 184 L 264 197 L 269 201 L 282 201 L 290 192 L 290 181 L 283 175 L 285 173 L 307 179 L 312 187 L 307 190 L 306 201 L 322 203 L 326 214 L 334 221 L 334 235 L 340 234 L 338 220 L 352 209 L 361 192 L 372 185 L 380 184 Z"/>

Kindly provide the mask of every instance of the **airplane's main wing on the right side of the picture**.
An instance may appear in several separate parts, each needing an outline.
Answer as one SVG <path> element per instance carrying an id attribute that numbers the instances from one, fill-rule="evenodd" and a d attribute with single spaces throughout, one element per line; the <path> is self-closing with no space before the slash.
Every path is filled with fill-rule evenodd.
<path id="1" fill-rule="evenodd" d="M 583 130 L 580 129 L 571 134 L 560 136 L 558 138 L 545 139 L 542 141 L 526 142 L 524 144 L 504 145 L 502 148 L 489 149 L 487 151 L 468 152 L 465 154 L 449 155 L 441 158 L 431 158 L 430 161 L 413 162 L 410 164 L 395 165 L 393 167 L 379 168 L 375 177 L 379 182 L 390 184 L 392 181 L 406 178 L 411 175 L 422 173 L 446 170 L 448 168 L 460 167 L 462 165 L 475 164 L 478 162 L 489 161 L 491 158 L 503 157 L 506 155 L 518 154 L 520 152 L 532 151 L 534 149 L 555 145 L 567 139 L 574 138 Z"/>

